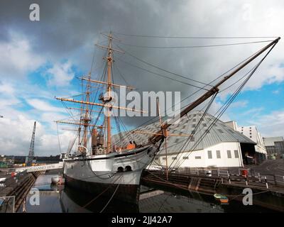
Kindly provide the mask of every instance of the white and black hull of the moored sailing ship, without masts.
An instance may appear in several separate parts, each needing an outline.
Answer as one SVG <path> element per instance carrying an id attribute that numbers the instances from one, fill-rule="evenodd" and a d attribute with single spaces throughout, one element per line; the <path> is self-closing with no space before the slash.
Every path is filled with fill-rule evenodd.
<path id="1" fill-rule="evenodd" d="M 124 153 L 67 158 L 65 183 L 91 194 L 114 195 L 115 199 L 137 203 L 141 173 L 155 152 L 154 146 L 147 146 Z"/>

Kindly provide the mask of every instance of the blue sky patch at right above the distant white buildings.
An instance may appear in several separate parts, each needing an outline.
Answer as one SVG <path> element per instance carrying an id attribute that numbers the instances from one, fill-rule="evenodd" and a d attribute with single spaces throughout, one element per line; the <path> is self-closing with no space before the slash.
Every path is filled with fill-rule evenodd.
<path id="1" fill-rule="evenodd" d="M 273 123 L 282 125 L 282 115 L 278 118 L 278 114 L 284 110 L 283 100 L 284 82 L 265 84 L 259 89 L 245 89 L 226 111 L 226 117 L 229 116 L 239 126 L 256 125 L 263 136 L 283 136 L 281 128 L 271 130 Z"/>

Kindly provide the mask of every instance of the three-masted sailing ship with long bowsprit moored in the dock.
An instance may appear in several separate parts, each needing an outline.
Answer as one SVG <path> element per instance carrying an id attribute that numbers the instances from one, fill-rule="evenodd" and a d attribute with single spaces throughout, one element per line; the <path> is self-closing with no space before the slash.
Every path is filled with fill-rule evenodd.
<path id="1" fill-rule="evenodd" d="M 107 57 L 104 57 L 107 64 L 107 81 L 99 81 L 88 77 L 81 77 L 82 82 L 87 82 L 86 91 L 82 94 L 81 100 L 56 98 L 63 102 L 72 102 L 80 104 L 80 119 L 74 122 L 58 121 L 58 123 L 71 123 L 78 126 L 77 129 L 77 153 L 75 155 L 67 155 L 64 162 L 65 184 L 92 194 L 104 194 L 110 198 L 121 199 L 123 201 L 138 203 L 138 196 L 141 183 L 142 171 L 153 161 L 155 155 L 159 152 L 161 145 L 166 141 L 168 128 L 173 125 L 179 118 L 195 109 L 198 105 L 214 96 L 219 92 L 219 86 L 230 79 L 236 72 L 249 64 L 256 57 L 261 55 L 268 48 L 273 48 L 280 38 L 273 40 L 266 47 L 259 50 L 241 63 L 234 71 L 227 74 L 217 82 L 214 86 L 202 94 L 199 99 L 185 106 L 180 112 L 180 116 L 173 118 L 166 123 L 160 123 L 157 132 L 150 135 L 148 142 L 141 145 L 131 144 L 129 146 L 116 148 L 111 143 L 111 126 L 113 119 L 111 111 L 113 109 L 126 109 L 121 106 L 114 106 L 111 101 L 111 91 L 114 88 L 124 87 L 132 89 L 126 85 L 114 84 L 112 80 L 112 64 L 114 62 L 113 53 L 121 52 L 112 47 L 112 41 L 115 39 L 111 33 L 107 35 L 108 45 L 100 46 L 107 50 Z M 105 93 L 99 97 L 99 101 L 91 101 L 90 93 L 92 84 L 99 84 L 104 87 Z M 97 116 L 97 120 L 93 121 L 93 107 L 101 109 Z M 107 114 L 102 114 L 105 109 Z M 127 111 L 141 111 L 136 109 L 126 109 Z M 102 118 L 102 124 L 96 124 Z M 95 122 L 95 123 L 94 123 Z M 90 136 L 91 135 L 91 136 Z M 190 136 L 190 135 L 189 135 Z M 91 148 L 89 140 L 92 139 Z"/>

